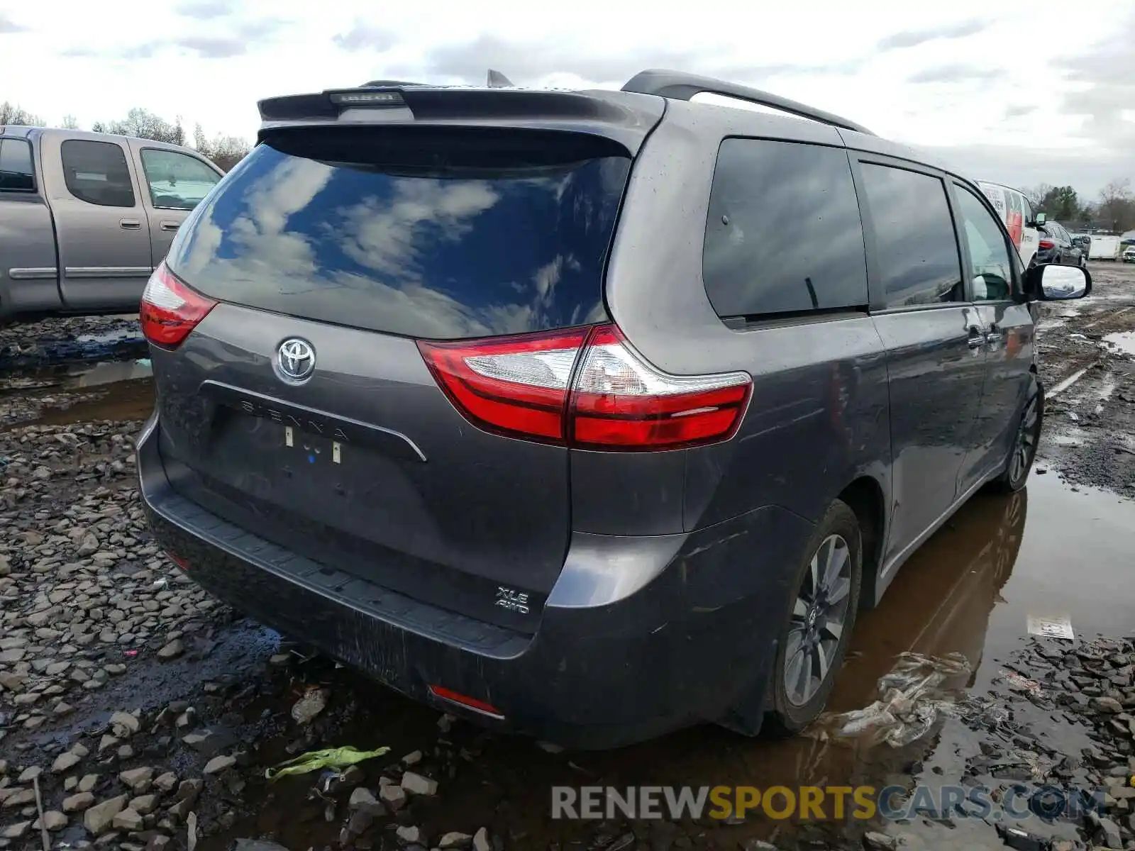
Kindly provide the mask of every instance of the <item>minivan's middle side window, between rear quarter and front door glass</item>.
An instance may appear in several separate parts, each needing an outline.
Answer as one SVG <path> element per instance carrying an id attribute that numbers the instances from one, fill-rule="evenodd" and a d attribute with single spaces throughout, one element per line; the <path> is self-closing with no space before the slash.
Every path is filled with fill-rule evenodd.
<path id="1" fill-rule="evenodd" d="M 930 175 L 866 162 L 863 183 L 886 306 L 962 301 L 945 185 Z"/>

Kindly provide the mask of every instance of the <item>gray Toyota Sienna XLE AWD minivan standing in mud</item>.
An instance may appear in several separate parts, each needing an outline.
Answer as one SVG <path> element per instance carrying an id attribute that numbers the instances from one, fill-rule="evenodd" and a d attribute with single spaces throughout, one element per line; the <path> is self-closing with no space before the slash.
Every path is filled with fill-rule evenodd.
<path id="1" fill-rule="evenodd" d="M 398 691 L 586 748 L 799 731 L 857 610 L 1025 485 L 1035 301 L 1091 277 L 911 150 L 674 71 L 260 112 L 143 296 L 142 496 Z"/>

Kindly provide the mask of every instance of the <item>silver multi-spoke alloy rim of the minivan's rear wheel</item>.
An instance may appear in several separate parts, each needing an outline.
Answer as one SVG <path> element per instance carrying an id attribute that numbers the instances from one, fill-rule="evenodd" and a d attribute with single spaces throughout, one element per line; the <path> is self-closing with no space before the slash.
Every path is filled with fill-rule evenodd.
<path id="1" fill-rule="evenodd" d="M 784 646 L 784 692 L 804 706 L 831 673 L 843 640 L 851 592 L 851 550 L 839 534 L 827 536 L 812 556 L 792 606 Z"/>

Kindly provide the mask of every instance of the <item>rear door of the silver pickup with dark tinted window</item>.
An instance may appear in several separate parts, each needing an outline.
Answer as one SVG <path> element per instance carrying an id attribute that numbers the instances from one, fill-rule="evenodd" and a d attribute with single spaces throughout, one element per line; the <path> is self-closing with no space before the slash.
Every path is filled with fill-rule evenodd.
<path id="1" fill-rule="evenodd" d="M 41 140 L 68 310 L 133 310 L 153 270 L 150 224 L 125 143 L 59 133 Z"/>

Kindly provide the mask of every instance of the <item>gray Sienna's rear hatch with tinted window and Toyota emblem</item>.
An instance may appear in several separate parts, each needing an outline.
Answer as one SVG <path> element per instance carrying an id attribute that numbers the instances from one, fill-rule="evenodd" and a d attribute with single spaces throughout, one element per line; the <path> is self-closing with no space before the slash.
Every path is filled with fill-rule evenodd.
<path id="1" fill-rule="evenodd" d="M 471 424 L 422 342 L 603 321 L 630 152 L 468 126 L 262 140 L 155 275 L 217 302 L 153 347 L 174 487 L 313 561 L 535 630 L 569 542 L 569 450 Z"/>

